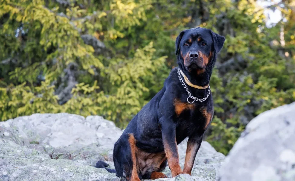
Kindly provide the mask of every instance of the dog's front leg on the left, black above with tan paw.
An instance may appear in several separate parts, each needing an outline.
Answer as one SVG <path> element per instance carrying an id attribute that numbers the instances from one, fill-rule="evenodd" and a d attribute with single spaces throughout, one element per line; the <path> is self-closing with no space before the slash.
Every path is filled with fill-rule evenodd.
<path id="1" fill-rule="evenodd" d="M 165 154 L 168 159 L 168 165 L 171 170 L 172 177 L 175 177 L 180 173 L 183 173 L 179 165 L 179 156 L 175 138 L 176 126 L 172 124 L 166 124 L 161 126 L 161 128 Z"/>

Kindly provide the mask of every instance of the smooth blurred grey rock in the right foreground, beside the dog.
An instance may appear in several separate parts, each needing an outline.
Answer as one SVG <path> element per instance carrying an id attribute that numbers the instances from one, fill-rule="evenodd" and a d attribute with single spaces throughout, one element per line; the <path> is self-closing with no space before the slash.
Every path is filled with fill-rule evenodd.
<path id="1" fill-rule="evenodd" d="M 249 122 L 220 170 L 220 181 L 236 180 L 295 180 L 295 103 Z"/>

